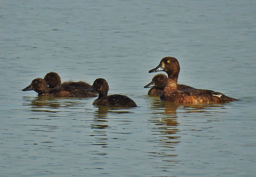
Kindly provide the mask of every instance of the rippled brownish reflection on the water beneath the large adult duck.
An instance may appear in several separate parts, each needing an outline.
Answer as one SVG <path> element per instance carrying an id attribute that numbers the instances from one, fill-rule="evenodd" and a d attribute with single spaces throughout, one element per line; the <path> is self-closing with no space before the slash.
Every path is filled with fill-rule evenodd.
<path id="1" fill-rule="evenodd" d="M 174 148 L 176 144 L 181 142 L 180 123 L 177 121 L 177 112 L 209 112 L 213 107 L 224 107 L 224 105 L 193 105 L 160 101 L 154 97 L 150 100 L 151 118 L 148 121 L 154 123 L 153 134 L 158 135 L 157 142 L 159 146 Z"/>

